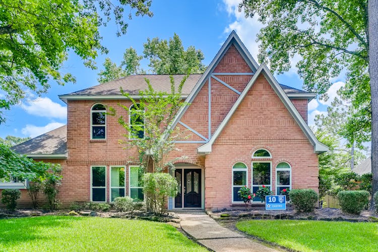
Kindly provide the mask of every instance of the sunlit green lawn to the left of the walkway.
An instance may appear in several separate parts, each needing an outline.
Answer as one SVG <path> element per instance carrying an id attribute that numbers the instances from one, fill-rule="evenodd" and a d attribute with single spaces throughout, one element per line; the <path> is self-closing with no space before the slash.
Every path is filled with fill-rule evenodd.
<path id="1" fill-rule="evenodd" d="M 207 251 L 150 221 L 44 216 L 0 220 L 0 251 Z"/>

